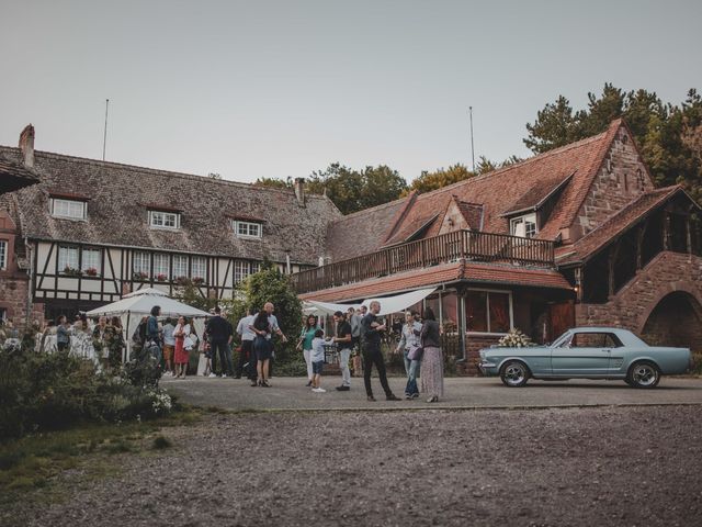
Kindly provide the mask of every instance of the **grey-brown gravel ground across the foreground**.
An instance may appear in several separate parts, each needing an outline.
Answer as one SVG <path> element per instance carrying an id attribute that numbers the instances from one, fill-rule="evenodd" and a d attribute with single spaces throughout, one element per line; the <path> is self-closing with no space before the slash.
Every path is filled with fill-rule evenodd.
<path id="1" fill-rule="evenodd" d="M 702 525 L 700 406 L 214 415 L 32 526 Z"/>

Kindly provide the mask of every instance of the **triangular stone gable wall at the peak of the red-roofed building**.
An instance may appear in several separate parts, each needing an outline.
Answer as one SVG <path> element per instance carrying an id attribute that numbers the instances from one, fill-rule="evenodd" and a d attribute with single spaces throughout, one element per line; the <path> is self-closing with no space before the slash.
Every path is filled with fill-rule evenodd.
<path id="1" fill-rule="evenodd" d="M 588 195 L 578 211 L 576 226 L 581 235 L 602 225 L 642 193 L 654 190 L 634 141 L 620 127 Z"/>

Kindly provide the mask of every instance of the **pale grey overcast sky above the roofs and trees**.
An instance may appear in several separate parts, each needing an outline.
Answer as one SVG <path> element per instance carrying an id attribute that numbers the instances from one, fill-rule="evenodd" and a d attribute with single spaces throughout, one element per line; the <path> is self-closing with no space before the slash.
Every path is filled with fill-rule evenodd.
<path id="1" fill-rule="evenodd" d="M 254 181 L 529 156 L 604 82 L 702 90 L 702 2 L 0 0 L 0 144 Z"/>

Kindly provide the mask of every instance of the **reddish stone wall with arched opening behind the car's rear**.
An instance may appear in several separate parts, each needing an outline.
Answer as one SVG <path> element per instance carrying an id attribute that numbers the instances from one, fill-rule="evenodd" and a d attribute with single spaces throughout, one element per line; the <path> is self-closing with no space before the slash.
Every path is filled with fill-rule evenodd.
<path id="1" fill-rule="evenodd" d="M 664 251 L 604 304 L 577 304 L 576 324 L 625 327 L 642 334 L 652 312 L 673 292 L 702 305 L 702 258 Z M 673 323 L 675 321 L 670 321 Z"/>

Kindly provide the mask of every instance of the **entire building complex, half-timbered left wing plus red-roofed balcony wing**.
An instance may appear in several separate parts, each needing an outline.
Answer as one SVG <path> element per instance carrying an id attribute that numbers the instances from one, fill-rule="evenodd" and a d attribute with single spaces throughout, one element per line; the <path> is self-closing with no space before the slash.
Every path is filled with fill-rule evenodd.
<path id="1" fill-rule="evenodd" d="M 301 181 L 293 192 L 35 153 L 31 132 L 0 147 L 0 170 L 39 180 L 0 197 L 0 315 L 75 313 L 181 277 L 227 298 L 268 258 L 304 300 L 435 288 L 420 304 L 457 337 L 468 371 L 512 328 L 546 341 L 616 325 L 702 349 L 700 208 L 680 187 L 655 188 L 619 120 L 347 216 Z"/>

